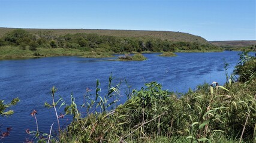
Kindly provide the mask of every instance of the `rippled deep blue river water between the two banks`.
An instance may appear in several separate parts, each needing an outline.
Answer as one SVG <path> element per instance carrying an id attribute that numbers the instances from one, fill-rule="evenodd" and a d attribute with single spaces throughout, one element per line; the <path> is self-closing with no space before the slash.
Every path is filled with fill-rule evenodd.
<path id="1" fill-rule="evenodd" d="M 101 93 L 106 92 L 109 76 L 112 73 L 113 85 L 121 83 L 121 101 L 124 102 L 127 84 L 131 89 L 140 89 L 144 83 L 156 81 L 164 89 L 185 93 L 189 88 L 195 89 L 199 84 L 225 83 L 224 61 L 230 66 L 230 74 L 239 59 L 239 52 L 176 53 L 177 57 L 159 57 L 159 53 L 143 54 L 145 61 L 113 61 L 115 58 L 80 58 L 80 57 L 46 57 L 26 60 L 0 61 L 0 96 L 1 100 L 10 102 L 19 97 L 20 102 L 11 109 L 11 117 L 0 117 L 1 130 L 11 126 L 10 136 L 0 142 L 24 142 L 32 138 L 25 130 L 37 130 L 35 119 L 30 115 L 37 110 L 38 126 L 42 132 L 57 130 L 53 108 L 44 107 L 44 102 L 51 101 L 50 89 L 58 88 L 61 95 L 70 102 L 70 95 L 76 98 L 78 105 L 83 102 L 86 88 L 95 91 L 97 79 L 101 82 Z M 116 55 L 118 56 L 118 55 Z M 127 84 L 124 82 L 127 80 Z M 62 109 L 59 113 L 63 112 Z M 71 117 L 64 117 L 61 126 L 70 123 Z"/>

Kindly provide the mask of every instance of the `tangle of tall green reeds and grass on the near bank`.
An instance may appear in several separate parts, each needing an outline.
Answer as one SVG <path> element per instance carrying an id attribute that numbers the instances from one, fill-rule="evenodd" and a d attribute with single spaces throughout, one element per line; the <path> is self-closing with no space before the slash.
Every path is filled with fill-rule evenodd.
<path id="1" fill-rule="evenodd" d="M 75 120 L 60 141 L 254 141 L 255 82 L 241 85 L 232 83 L 226 86 L 228 89 L 216 85 L 211 92 L 211 86 L 204 84 L 178 98 L 173 92 L 162 90 L 158 83 L 147 83 L 115 109 L 91 112 Z M 95 102 L 96 107 L 101 103 Z"/>

